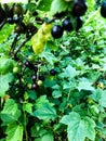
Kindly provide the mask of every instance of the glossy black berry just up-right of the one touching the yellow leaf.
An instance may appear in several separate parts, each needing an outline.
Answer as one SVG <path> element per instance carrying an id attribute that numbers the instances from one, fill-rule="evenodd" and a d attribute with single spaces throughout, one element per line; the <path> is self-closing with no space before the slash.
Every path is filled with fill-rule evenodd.
<path id="1" fill-rule="evenodd" d="M 67 31 L 70 31 L 74 29 L 72 24 L 68 17 L 63 21 L 63 29 Z"/>

